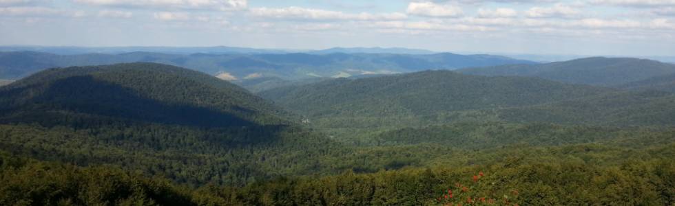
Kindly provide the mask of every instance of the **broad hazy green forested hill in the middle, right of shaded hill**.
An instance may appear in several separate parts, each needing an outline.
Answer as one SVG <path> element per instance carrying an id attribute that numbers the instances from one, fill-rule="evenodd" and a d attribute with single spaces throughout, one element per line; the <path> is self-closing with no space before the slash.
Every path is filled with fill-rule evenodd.
<path id="1" fill-rule="evenodd" d="M 310 119 L 372 117 L 382 120 L 393 117 L 443 116 L 457 111 L 486 108 L 530 106 L 608 91 L 612 89 L 564 84 L 540 78 L 486 77 L 453 71 L 421 71 L 355 80 L 340 78 L 271 89 L 258 94 Z"/>

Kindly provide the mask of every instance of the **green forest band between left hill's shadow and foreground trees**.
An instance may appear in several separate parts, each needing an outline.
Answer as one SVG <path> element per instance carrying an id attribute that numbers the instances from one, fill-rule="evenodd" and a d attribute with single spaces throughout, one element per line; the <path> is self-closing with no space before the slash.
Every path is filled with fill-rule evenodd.
<path id="1" fill-rule="evenodd" d="M 75 130 L 19 124 L 0 125 L 0 138 L 0 150 L 15 155 L 76 165 L 120 165 L 189 185 L 238 185 L 279 175 L 322 172 L 316 166 L 318 157 L 339 147 L 298 128 L 271 126 L 147 124 Z M 306 160 L 299 161 L 301 158 Z"/>

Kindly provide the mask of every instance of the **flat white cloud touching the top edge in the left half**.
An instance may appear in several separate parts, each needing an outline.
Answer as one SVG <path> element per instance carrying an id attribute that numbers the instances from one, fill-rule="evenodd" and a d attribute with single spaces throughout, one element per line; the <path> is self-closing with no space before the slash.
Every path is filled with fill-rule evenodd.
<path id="1" fill-rule="evenodd" d="M 243 10 L 247 0 L 73 0 L 90 5 L 121 7 L 181 8 L 204 10 Z"/>

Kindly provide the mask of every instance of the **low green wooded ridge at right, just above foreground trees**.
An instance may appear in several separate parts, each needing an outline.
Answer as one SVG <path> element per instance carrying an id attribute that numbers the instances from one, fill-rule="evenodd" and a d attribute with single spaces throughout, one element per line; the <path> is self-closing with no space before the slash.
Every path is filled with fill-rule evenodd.
<path id="1" fill-rule="evenodd" d="M 378 146 L 433 143 L 476 150 L 516 144 L 563 146 L 585 143 L 630 148 L 637 145 L 621 144 L 621 141 L 636 141 L 636 139 L 648 139 L 649 144 L 669 144 L 675 141 L 675 130 L 556 124 L 461 123 L 389 130 L 375 135 L 370 141 L 371 144 Z"/>

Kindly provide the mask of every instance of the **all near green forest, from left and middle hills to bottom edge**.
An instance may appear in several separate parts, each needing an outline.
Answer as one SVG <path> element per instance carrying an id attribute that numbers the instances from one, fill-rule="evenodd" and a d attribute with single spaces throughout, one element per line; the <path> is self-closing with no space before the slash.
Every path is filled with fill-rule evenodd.
<path id="1" fill-rule="evenodd" d="M 666 91 L 453 71 L 283 84 L 258 97 L 126 63 L 0 87 L 0 205 L 675 204 Z"/>

